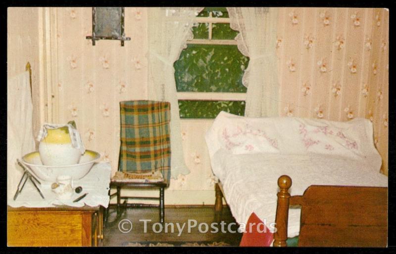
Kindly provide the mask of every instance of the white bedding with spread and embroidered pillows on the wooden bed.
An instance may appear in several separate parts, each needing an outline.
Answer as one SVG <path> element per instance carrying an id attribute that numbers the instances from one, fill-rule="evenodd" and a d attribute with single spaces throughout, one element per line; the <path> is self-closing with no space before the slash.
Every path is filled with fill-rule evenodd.
<path id="1" fill-rule="evenodd" d="M 290 176 L 291 195 L 311 185 L 387 187 L 381 157 L 366 119 L 332 122 L 302 118 L 247 118 L 221 112 L 205 135 L 216 185 L 215 210 L 227 201 L 237 223 L 255 213 L 275 223 L 278 178 Z M 288 213 L 287 237 L 299 235 L 300 209 Z"/>

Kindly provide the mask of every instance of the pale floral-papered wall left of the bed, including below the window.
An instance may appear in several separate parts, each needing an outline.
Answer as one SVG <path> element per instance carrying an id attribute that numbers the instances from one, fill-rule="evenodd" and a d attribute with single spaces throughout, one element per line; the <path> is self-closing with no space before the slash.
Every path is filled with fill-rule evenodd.
<path id="1" fill-rule="evenodd" d="M 147 99 L 147 9 L 125 8 L 125 35 L 119 41 L 85 37 L 92 33 L 92 8 L 50 8 L 49 122 L 74 120 L 87 149 L 98 151 L 117 171 L 119 101 Z M 214 185 L 203 137 L 211 121 L 182 123 L 188 176 L 171 179 L 165 204 L 214 204 Z M 202 128 L 203 127 L 203 128 Z M 187 131 L 188 130 L 188 131 Z M 191 130 L 194 130 L 193 132 Z M 192 135 L 194 133 L 194 135 Z M 157 196 L 158 191 L 128 191 L 126 195 Z M 115 202 L 113 199 L 111 202 Z"/>

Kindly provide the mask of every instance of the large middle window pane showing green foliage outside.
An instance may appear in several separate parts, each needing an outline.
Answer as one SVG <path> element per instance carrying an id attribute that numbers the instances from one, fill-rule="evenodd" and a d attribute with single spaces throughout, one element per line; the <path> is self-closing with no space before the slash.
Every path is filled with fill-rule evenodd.
<path id="1" fill-rule="evenodd" d="M 189 44 L 174 63 L 177 91 L 246 92 L 248 61 L 236 45 Z"/>

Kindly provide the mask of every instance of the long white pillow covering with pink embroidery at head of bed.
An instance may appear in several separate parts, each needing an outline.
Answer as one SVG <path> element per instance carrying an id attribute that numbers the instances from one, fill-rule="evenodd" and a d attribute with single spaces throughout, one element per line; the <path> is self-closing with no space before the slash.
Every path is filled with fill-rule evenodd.
<path id="1" fill-rule="evenodd" d="M 206 132 L 212 169 L 214 154 L 324 154 L 364 160 L 378 169 L 382 160 L 374 147 L 372 123 L 297 117 L 248 118 L 220 112 Z M 220 163 L 220 162 L 219 162 Z"/>

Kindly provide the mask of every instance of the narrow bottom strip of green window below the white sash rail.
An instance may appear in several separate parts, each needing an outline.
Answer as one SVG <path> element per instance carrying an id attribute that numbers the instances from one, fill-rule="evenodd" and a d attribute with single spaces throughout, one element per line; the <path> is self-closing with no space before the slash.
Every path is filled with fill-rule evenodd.
<path id="1" fill-rule="evenodd" d="M 179 100 L 180 118 L 213 119 L 225 111 L 234 115 L 245 114 L 245 101 Z"/>

